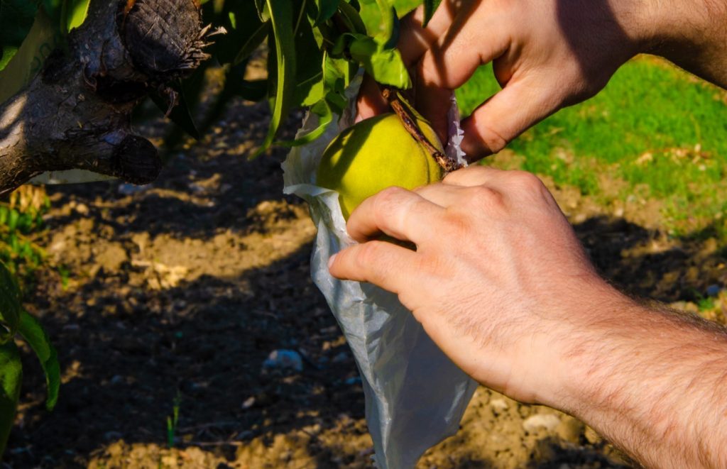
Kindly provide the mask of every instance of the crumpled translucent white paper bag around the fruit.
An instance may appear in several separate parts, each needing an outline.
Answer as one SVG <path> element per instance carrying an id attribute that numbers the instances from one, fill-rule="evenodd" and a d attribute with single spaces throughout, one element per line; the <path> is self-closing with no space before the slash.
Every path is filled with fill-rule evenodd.
<path id="1" fill-rule="evenodd" d="M 359 83 L 360 77 L 348 90 L 351 106 L 340 120 L 334 116 L 321 138 L 291 150 L 282 165 L 284 192 L 308 202 L 318 228 L 310 271 L 358 364 L 374 460 L 382 469 L 411 468 L 427 449 L 457 432 L 477 383 L 442 353 L 396 295 L 329 274 L 329 257 L 355 241 L 346 233 L 337 192 L 316 186 L 316 168 L 329 142 L 353 123 Z M 451 121 L 459 122 L 456 116 Z M 309 113 L 299 134 L 317 126 Z M 458 125 L 451 134 L 448 151 L 461 158 Z"/>

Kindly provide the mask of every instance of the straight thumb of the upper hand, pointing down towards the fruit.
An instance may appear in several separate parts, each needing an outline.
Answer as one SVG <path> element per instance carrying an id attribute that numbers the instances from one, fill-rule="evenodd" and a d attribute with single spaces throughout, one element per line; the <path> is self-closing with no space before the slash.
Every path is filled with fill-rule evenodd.
<path id="1" fill-rule="evenodd" d="M 464 121 L 462 150 L 476 161 L 502 150 L 531 126 L 558 110 L 558 85 L 549 86 L 542 74 L 513 78 Z"/>

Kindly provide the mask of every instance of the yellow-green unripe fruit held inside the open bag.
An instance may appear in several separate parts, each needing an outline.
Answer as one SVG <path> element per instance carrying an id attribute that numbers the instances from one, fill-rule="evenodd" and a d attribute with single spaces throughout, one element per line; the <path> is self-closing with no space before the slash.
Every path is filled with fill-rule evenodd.
<path id="1" fill-rule="evenodd" d="M 419 129 L 443 151 L 429 123 Z M 387 187 L 414 189 L 442 179 L 443 170 L 403 126 L 398 115 L 381 114 L 350 126 L 326 148 L 316 184 L 339 194 L 343 217 Z"/>

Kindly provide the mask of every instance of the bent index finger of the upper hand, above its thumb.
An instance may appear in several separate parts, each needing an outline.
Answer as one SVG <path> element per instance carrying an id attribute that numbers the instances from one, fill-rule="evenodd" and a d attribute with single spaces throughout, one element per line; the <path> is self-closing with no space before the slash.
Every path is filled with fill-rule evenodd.
<path id="1" fill-rule="evenodd" d="M 470 16 L 459 15 L 422 56 L 417 80 L 423 86 L 459 88 L 480 65 L 505 53 L 509 36 L 501 32 L 502 25 Z"/>

